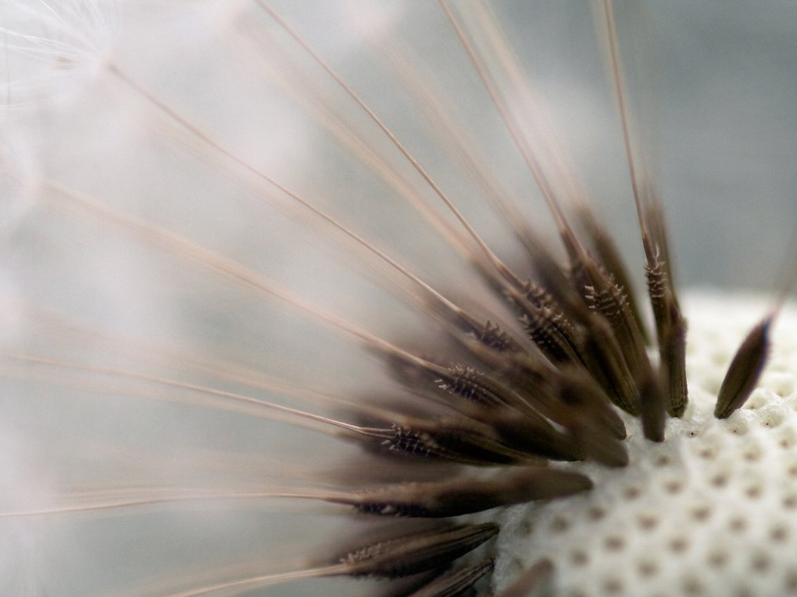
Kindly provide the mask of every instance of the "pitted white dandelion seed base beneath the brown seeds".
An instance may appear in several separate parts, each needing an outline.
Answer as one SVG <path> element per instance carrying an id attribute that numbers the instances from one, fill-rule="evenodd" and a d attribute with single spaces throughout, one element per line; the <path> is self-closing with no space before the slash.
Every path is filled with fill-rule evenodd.
<path id="1" fill-rule="evenodd" d="M 785 310 L 760 387 L 713 418 L 725 369 L 766 302 L 695 295 L 689 317 L 690 406 L 666 439 L 626 421 L 630 465 L 576 464 L 595 490 L 508 509 L 495 582 L 542 557 L 556 597 L 797 595 L 797 313 Z"/>

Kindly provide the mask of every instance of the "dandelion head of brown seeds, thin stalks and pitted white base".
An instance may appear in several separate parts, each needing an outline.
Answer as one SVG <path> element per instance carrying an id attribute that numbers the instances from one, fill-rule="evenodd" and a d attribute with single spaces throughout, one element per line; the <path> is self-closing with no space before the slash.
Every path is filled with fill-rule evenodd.
<path id="1" fill-rule="evenodd" d="M 379 337 L 239 263 L 147 221 L 116 213 L 92 197 L 44 182 L 43 193 L 57 197 L 53 202 L 91 213 L 170 256 L 205 267 L 355 338 L 378 355 L 398 381 L 400 394 L 384 396 L 381 404 L 386 406 L 380 408 L 339 400 L 345 413 L 333 418 L 154 375 L 6 355 L 15 363 L 82 367 L 116 379 L 194 392 L 236 407 L 262 408 L 355 443 L 368 458 L 385 462 L 386 468 L 398 463 L 391 472 L 402 471 L 390 481 L 369 482 L 367 471 L 373 469 L 363 469 L 357 486 L 340 482 L 335 490 L 200 492 L 90 508 L 289 497 L 344 507 L 355 520 L 420 519 L 413 525 L 386 524 L 382 532 L 373 533 L 375 537 L 359 540 L 355 547 L 341 549 L 312 568 L 194 588 L 179 594 L 183 597 L 245 591 L 311 576 L 410 577 L 409 588 L 401 590 L 414 597 L 487 594 L 493 590 L 488 578 L 501 597 L 536 591 L 557 597 L 696 597 L 708 594 L 709 583 L 712 591 L 722 587 L 720 592 L 740 597 L 797 593 L 797 568 L 788 555 L 797 540 L 792 514 L 797 508 L 797 460 L 780 457 L 797 443 L 795 380 L 774 377 L 768 384 L 775 385 L 765 384 L 753 393 L 784 298 L 752 326 L 736 350 L 728 351 L 727 341 L 717 341 L 725 351 L 721 354 L 711 353 L 716 346 L 711 342 L 687 346 L 662 206 L 632 150 L 611 0 L 598 11 L 599 25 L 609 41 L 608 61 L 638 213 L 650 308 L 634 295 L 632 276 L 587 201 L 562 197 L 556 190 L 559 185 L 552 179 L 567 178 L 567 173 L 548 172 L 540 165 L 545 160 L 524 142 L 516 115 L 494 88 L 489 68 L 446 2 L 441 2 L 442 11 L 493 98 L 556 226 L 559 246 L 552 247 L 531 228 L 512 222 L 516 240 L 525 248 L 518 259 L 525 267 L 509 267 L 502 261 L 343 78 L 266 2 L 254 4 L 261 18 L 276 23 L 281 35 L 347 94 L 392 149 L 406 158 L 435 201 L 442 202 L 456 225 L 434 209 L 424 216 L 465 255 L 469 273 L 489 288 L 496 306 L 474 312 L 457 305 L 313 201 L 250 165 L 109 60 L 101 67 L 106 76 L 179 128 L 202 151 L 231 170 L 245 171 L 258 188 L 277 193 L 290 209 L 346 236 L 367 259 L 377 259 L 383 271 L 400 277 L 402 290 L 411 289 L 407 294 L 443 330 L 443 338 L 434 341 L 445 349 L 426 349 L 434 345 L 427 344 L 430 338 L 402 342 Z M 505 66 L 512 70 L 511 64 Z M 710 318 L 701 315 L 701 325 L 704 319 Z M 701 331 L 693 334 L 704 338 Z M 410 344 L 421 348 L 406 348 Z M 748 408 L 742 408 L 751 394 Z M 771 462 L 776 465 L 770 466 Z M 498 515 L 500 525 L 481 521 L 492 517 L 482 513 L 499 507 L 509 507 Z M 782 517 L 759 516 L 762 510 Z M 744 544 L 744 549 L 734 549 L 734 541 Z M 712 576 L 703 574 L 705 569 L 714 571 Z"/>

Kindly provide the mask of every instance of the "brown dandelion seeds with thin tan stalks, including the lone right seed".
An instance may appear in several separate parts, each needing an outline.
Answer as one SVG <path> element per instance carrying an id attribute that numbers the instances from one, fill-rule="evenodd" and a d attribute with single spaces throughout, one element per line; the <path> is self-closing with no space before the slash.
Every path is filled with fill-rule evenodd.
<path id="1" fill-rule="evenodd" d="M 192 404 L 221 404 L 231 411 L 246 407 L 249 409 L 247 413 L 262 410 L 267 413 L 263 416 L 266 419 L 320 431 L 336 441 L 344 439 L 357 443 L 358 448 L 367 452 L 364 455 L 358 452 L 357 458 L 367 460 L 372 469 L 383 470 L 375 473 L 363 466 L 362 470 L 356 471 L 359 477 L 352 474 L 351 478 L 344 479 L 343 474 L 329 475 L 340 485 L 332 490 L 155 492 L 155 497 L 115 497 L 106 501 L 96 500 L 96 503 L 88 503 L 86 498 L 81 505 L 74 507 L 9 511 L 0 513 L 0 517 L 132 509 L 132 506 L 167 501 L 265 497 L 332 503 L 336 506 L 324 508 L 332 509 L 336 516 L 340 515 L 337 510 L 346 506 L 358 516 L 352 517 L 351 512 L 347 512 L 345 521 L 357 520 L 358 524 L 368 518 L 365 515 L 371 515 L 371 519 L 461 517 L 529 501 L 556 500 L 591 490 L 591 479 L 573 472 L 568 462 L 591 461 L 609 467 L 628 465 L 631 461 L 628 447 L 634 444 L 625 441 L 623 417 L 626 415 L 620 411 L 641 419 L 645 439 L 663 442 L 667 416 L 683 416 L 687 408 L 687 325 L 673 284 L 661 201 L 646 171 L 645 155 L 632 134 L 634 123 L 626 97 L 611 0 L 603 0 L 603 12 L 599 18 L 603 18 L 602 26 L 609 41 L 611 84 L 645 256 L 644 271 L 654 328 L 650 330 L 643 307 L 634 293 L 628 267 L 614 239 L 587 204 L 575 178 L 559 160 L 556 148 L 546 146 L 545 135 L 541 134 L 540 140 L 535 139 L 532 143 L 535 135 L 529 135 L 525 130 L 520 110 L 497 85 L 489 60 L 482 55 L 477 42 L 465 33 L 461 13 L 457 13 L 461 9 L 455 9 L 453 3 L 446 0 L 439 2 L 460 41 L 462 53 L 468 57 L 473 71 L 481 80 L 483 90 L 503 121 L 506 134 L 515 145 L 516 153 L 524 161 L 530 178 L 536 182 L 548 207 L 556 228 L 554 246 L 546 244 L 542 235 L 520 219 L 520 211 L 508 201 L 502 185 L 494 180 L 496 177 L 479 161 L 475 151 L 459 138 L 453 125 L 440 123 L 435 132 L 444 144 L 448 144 L 452 153 L 457 153 L 456 158 L 465 164 L 469 177 L 491 197 L 493 211 L 499 215 L 505 229 L 514 233 L 516 240 L 520 241 L 518 244 L 523 245 L 525 253 L 521 257 L 525 264 L 522 259 L 505 261 L 500 245 L 489 244 L 485 240 L 487 236 L 482 236 L 473 224 L 477 219 L 466 217 L 466 210 L 453 201 L 453 193 L 446 190 L 447 183 L 438 181 L 431 174 L 432 170 L 426 170 L 417 157 L 422 152 L 416 154 L 410 150 L 411 143 L 399 138 L 400 129 L 388 126 L 388 121 L 363 99 L 365 96 L 360 96 L 355 86 L 347 83 L 338 70 L 332 68 L 332 63 L 324 60 L 322 53 L 316 52 L 265 0 L 256 0 L 255 3 L 268 16 L 269 22 L 276 23 L 277 28 L 292 40 L 289 43 L 298 46 L 300 53 L 315 63 L 313 68 L 323 69 L 336 90 L 342 91 L 347 101 L 356 104 L 359 115 L 367 120 L 367 126 L 376 129 L 369 132 L 375 132 L 382 139 L 387 138 L 389 150 L 398 151 L 401 166 L 406 167 L 409 176 L 399 173 L 399 168 L 391 165 L 388 158 L 377 155 L 366 135 L 340 131 L 346 127 L 344 119 L 334 114 L 334 110 L 323 101 L 308 111 L 316 112 L 323 127 L 338 129 L 333 136 L 347 146 L 363 166 L 367 166 L 369 174 L 377 174 L 398 193 L 398 197 L 417 209 L 423 224 L 434 229 L 440 240 L 462 259 L 468 275 L 473 275 L 473 279 L 465 279 L 463 286 L 466 290 L 470 291 L 470 283 L 473 283 L 472 286 L 481 292 L 481 295 L 474 293 L 474 296 L 488 300 L 482 305 L 470 296 L 467 300 L 458 298 L 457 301 L 449 298 L 458 297 L 455 292 L 448 294 L 450 283 L 439 282 L 433 276 L 428 278 L 433 282 L 427 282 L 416 275 L 410 266 L 379 249 L 380 243 L 372 243 L 366 236 L 355 232 L 355 228 L 320 209 L 323 201 L 316 201 L 316 197 L 312 200 L 305 198 L 274 178 L 267 169 L 254 166 L 257 162 L 241 157 L 242 154 L 231 150 L 198 123 L 183 116 L 176 106 L 135 79 L 121 64 L 108 60 L 102 67 L 106 75 L 110 73 L 117 82 L 124 83 L 128 92 L 134 92 L 138 103 L 147 104 L 150 111 L 157 112 L 161 118 L 166 115 L 169 127 L 180 129 L 183 135 L 187 131 L 194 144 L 202 146 L 202 151 L 212 156 L 210 159 L 219 158 L 220 162 L 225 162 L 229 170 L 227 174 L 234 173 L 249 185 L 252 181 L 248 179 L 253 179 L 255 184 L 252 186 L 262 195 L 261 198 L 269 205 L 281 206 L 281 209 L 290 205 L 288 211 L 296 209 L 304 214 L 299 217 L 302 223 L 322 224 L 329 237 L 324 237 L 324 240 L 340 237 L 354 245 L 358 263 L 367 267 L 377 263 L 374 269 L 379 284 L 389 285 L 390 291 L 402 299 L 402 306 L 405 303 L 412 306 L 414 314 L 424 318 L 424 326 L 420 332 L 406 333 L 402 340 L 384 332 L 371 332 L 364 323 L 365 318 L 360 323 L 356 316 L 338 316 L 327 310 L 323 298 L 312 295 L 312 300 L 304 299 L 275 283 L 269 276 L 245 266 L 242 261 L 227 259 L 147 220 L 128 217 L 103 201 L 73 191 L 66 185 L 45 181 L 41 183 L 41 193 L 59 209 L 67 206 L 68 209 L 91 214 L 92 218 L 119 228 L 147 248 L 199 265 L 252 291 L 257 298 L 268 298 L 311 319 L 313 325 L 334 330 L 367 352 L 376 354 L 382 369 L 391 373 L 392 379 L 380 377 L 379 381 L 385 383 L 379 385 L 377 392 L 372 392 L 373 396 L 368 396 L 370 403 L 360 402 L 359 396 L 357 400 L 344 400 L 332 392 L 313 394 L 308 391 L 300 396 L 301 392 L 284 390 L 277 383 L 261 381 L 258 385 L 253 380 L 244 380 L 244 383 L 251 382 L 251 387 L 265 392 L 285 392 L 291 398 L 316 400 L 316 406 L 323 404 L 328 408 L 336 405 L 346 411 L 340 416 L 323 416 L 259 400 L 245 392 L 223 391 L 136 373 L 132 369 L 115 370 L 14 353 L 0 353 L 2 360 L 49 365 L 65 371 L 75 369 L 117 380 L 140 380 L 153 386 L 190 392 L 191 396 L 198 396 L 192 399 Z M 523 80 L 511 51 L 505 47 L 489 9 L 477 6 L 473 10 L 484 19 L 485 43 L 492 46 L 498 68 L 508 74 L 514 92 L 525 104 L 523 109 L 536 111 L 530 86 Z M 386 50 L 389 51 L 395 52 L 395 49 Z M 289 72 L 293 63 L 286 64 L 287 67 L 284 65 L 283 68 Z M 397 77 L 410 91 L 410 96 L 419 101 L 429 98 L 429 105 L 425 107 L 427 118 L 432 121 L 444 119 L 444 107 L 430 96 L 422 77 L 411 72 L 402 57 L 395 57 L 391 64 Z M 300 88 L 312 89 L 312 85 Z M 410 181 L 412 177 L 419 177 L 419 180 Z M 275 189 L 277 197 L 271 197 Z M 324 197 L 317 199 L 323 200 Z M 445 209 L 438 209 L 440 203 Z M 731 416 L 756 387 L 768 358 L 770 329 L 777 310 L 779 306 L 749 332 L 733 357 L 717 397 L 714 412 L 717 418 Z M 648 353 L 654 330 L 658 362 Z M 235 374 L 225 371 L 227 365 L 216 363 L 215 367 L 217 380 L 241 382 Z M 208 370 L 212 369 L 209 367 Z M 29 372 L 26 375 L 33 377 Z M 384 373 L 379 372 L 379 375 Z M 391 383 L 393 388 L 383 390 Z M 288 382 L 285 385 L 288 386 Z M 119 393 L 124 393 L 123 390 L 120 389 Z M 375 396 L 378 392 L 383 393 Z M 352 462 L 359 463 L 359 460 Z M 407 462 L 413 466 L 410 468 Z M 421 462 L 425 465 L 418 464 Z M 434 462 L 438 463 L 439 469 L 430 464 Z M 355 466 L 352 465 L 353 468 Z M 324 474 L 328 471 L 325 470 Z M 354 483 L 352 479 L 364 482 Z M 677 481 L 673 482 L 673 488 L 670 493 L 680 490 Z M 759 488 L 754 489 L 760 491 Z M 631 499 L 634 492 L 629 491 L 626 496 Z M 379 524 L 386 522 L 389 521 L 379 521 Z M 415 525 L 418 521 L 402 522 Z M 564 521 L 559 530 L 567 524 Z M 322 568 L 207 584 L 179 595 L 189 597 L 215 591 L 247 591 L 315 576 L 398 579 L 430 573 L 431 580 L 412 595 L 454 597 L 463 593 L 470 595 L 469 591 L 479 579 L 493 572 L 492 559 L 463 564 L 453 572 L 446 570 L 456 560 L 495 537 L 499 533 L 498 525 L 453 525 L 448 522 L 438 525 L 435 521 L 424 520 L 410 528 L 416 531 L 409 533 L 406 529 L 395 531 L 394 528 L 390 537 L 363 541 L 359 548 L 352 550 L 341 549 L 343 555 Z M 622 546 L 623 541 L 617 539 L 611 548 L 619 551 Z M 489 548 L 485 551 L 489 556 Z M 552 575 L 552 564 L 548 560 L 540 560 L 500 595 L 547 594 Z M 622 584 L 616 579 L 607 581 L 604 586 L 606 592 L 618 592 L 618 587 Z"/>

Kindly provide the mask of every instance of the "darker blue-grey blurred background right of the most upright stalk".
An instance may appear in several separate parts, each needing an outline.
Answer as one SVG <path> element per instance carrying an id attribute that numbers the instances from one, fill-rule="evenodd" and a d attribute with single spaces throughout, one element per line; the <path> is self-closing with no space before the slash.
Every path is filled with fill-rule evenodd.
<path id="1" fill-rule="evenodd" d="M 605 70 L 583 60 L 589 11 L 561 4 L 501 2 L 496 11 L 516 11 L 508 33 L 529 63 L 556 48 L 575 58 L 574 77 L 599 88 Z M 771 289 L 797 259 L 797 2 L 616 2 L 616 13 L 679 282 Z M 592 146 L 595 162 L 600 155 Z M 618 230 L 633 228 L 595 162 L 587 188 L 611 205 L 607 219 L 622 222 Z"/>

